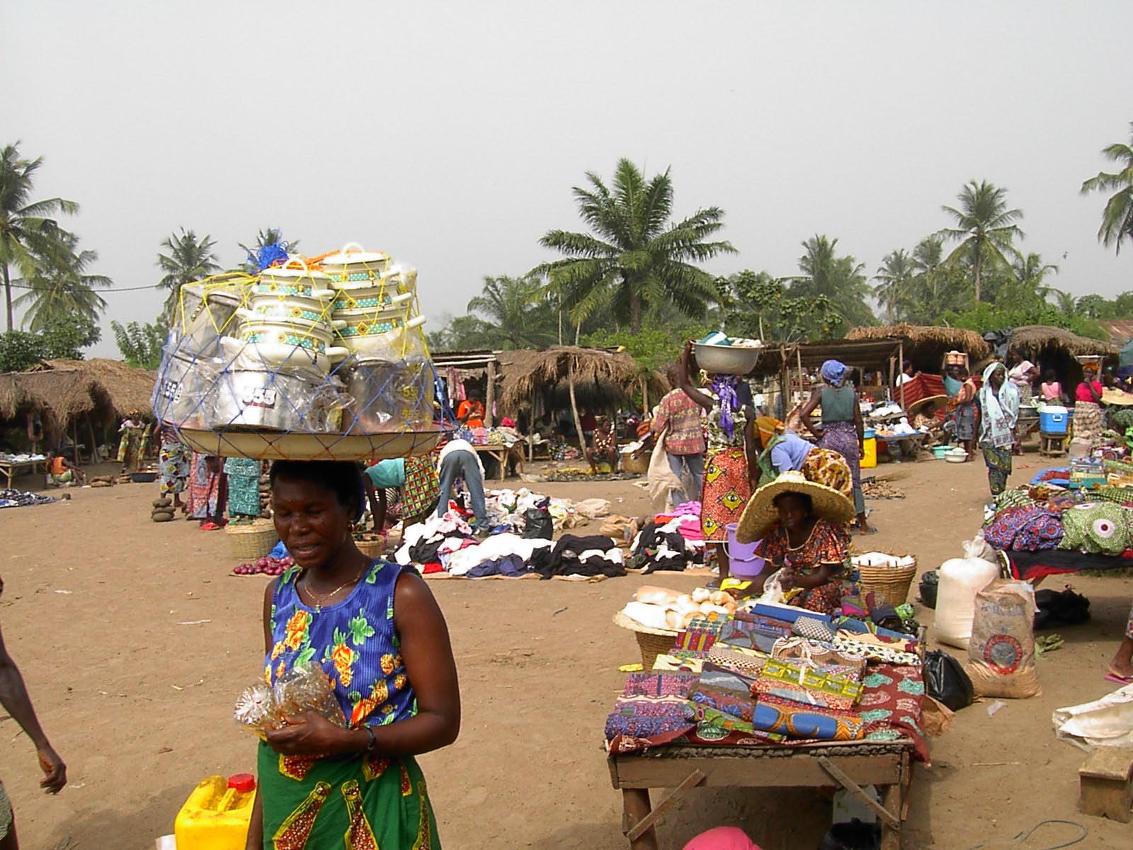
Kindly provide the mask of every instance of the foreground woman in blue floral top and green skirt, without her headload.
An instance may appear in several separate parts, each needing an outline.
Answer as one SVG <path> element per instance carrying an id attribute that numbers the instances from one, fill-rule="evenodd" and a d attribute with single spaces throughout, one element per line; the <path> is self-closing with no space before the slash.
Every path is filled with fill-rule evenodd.
<path id="1" fill-rule="evenodd" d="M 271 482 L 296 567 L 264 595 L 265 674 L 321 664 L 349 726 L 308 712 L 267 732 L 247 848 L 438 848 L 414 757 L 460 729 L 444 617 L 412 569 L 355 546 L 357 464 L 278 461 Z"/>

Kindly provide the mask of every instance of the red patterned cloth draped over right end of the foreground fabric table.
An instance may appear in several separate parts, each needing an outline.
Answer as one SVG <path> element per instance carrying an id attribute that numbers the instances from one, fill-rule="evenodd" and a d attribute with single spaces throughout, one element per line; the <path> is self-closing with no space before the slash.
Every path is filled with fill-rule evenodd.
<path id="1" fill-rule="evenodd" d="M 870 741 L 910 738 L 918 760 L 929 763 L 928 741 L 921 729 L 925 679 L 920 664 L 870 664 L 862 677 L 858 714 L 866 721 Z"/>

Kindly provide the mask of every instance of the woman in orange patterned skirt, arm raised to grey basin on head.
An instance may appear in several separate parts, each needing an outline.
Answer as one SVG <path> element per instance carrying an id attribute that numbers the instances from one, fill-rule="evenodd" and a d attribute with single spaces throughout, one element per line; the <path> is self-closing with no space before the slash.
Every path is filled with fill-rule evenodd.
<path id="1" fill-rule="evenodd" d="M 680 386 L 685 394 L 708 411 L 705 420 L 708 451 L 705 456 L 705 483 L 700 494 L 700 529 L 705 541 L 716 552 L 719 581 L 727 578 L 727 526 L 738 522 L 743 505 L 759 481 L 756 445 L 756 413 L 740 403 L 735 375 L 712 375 L 712 392 L 693 386 L 692 343 L 681 352 Z M 716 583 L 713 583 L 715 585 Z"/>

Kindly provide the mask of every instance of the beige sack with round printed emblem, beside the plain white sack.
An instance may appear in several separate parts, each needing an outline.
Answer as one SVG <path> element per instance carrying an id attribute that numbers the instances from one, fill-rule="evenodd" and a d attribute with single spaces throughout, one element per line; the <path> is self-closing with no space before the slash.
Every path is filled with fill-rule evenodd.
<path id="1" fill-rule="evenodd" d="M 976 594 L 976 619 L 965 672 L 982 697 L 1033 697 L 1034 588 L 1025 581 L 997 580 Z"/>

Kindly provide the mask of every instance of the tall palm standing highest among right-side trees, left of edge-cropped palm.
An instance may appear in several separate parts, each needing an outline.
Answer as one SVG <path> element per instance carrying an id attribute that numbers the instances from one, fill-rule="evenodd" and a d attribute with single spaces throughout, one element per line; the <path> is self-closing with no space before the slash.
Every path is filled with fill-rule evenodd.
<path id="1" fill-rule="evenodd" d="M 1023 218 L 1023 211 L 1008 210 L 1006 194 L 1006 189 L 993 186 L 987 180 L 970 180 L 956 195 L 960 209 L 942 207 L 955 220 L 956 227 L 945 228 L 940 233 L 960 241 L 948 255 L 947 262 L 955 262 L 965 255 L 970 258 L 977 301 L 980 300 L 980 278 L 985 262 L 1005 267 L 1005 253 L 1012 250 L 1015 239 L 1024 236 L 1015 224 Z"/>

